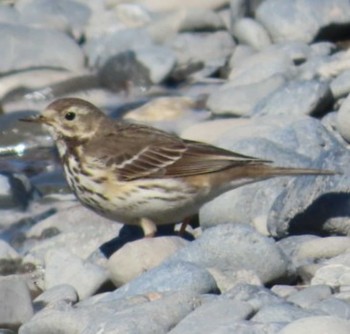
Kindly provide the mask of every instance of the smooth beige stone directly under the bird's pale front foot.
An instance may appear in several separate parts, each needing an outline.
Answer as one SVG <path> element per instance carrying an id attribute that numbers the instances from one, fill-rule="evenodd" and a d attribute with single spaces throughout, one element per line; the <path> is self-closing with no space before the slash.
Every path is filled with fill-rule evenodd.
<path id="1" fill-rule="evenodd" d="M 111 280 L 116 286 L 123 285 L 158 266 L 187 243 L 179 237 L 143 238 L 129 242 L 108 259 Z"/>

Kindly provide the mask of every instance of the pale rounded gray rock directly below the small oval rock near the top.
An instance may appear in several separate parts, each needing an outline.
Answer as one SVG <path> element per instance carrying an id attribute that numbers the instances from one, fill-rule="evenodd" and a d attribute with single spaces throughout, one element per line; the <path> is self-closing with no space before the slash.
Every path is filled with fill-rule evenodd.
<path id="1" fill-rule="evenodd" d="M 285 52 L 267 49 L 247 57 L 238 66 L 233 67 L 229 80 L 237 85 L 248 85 L 276 74 L 291 78 L 295 74 L 295 66 Z"/>

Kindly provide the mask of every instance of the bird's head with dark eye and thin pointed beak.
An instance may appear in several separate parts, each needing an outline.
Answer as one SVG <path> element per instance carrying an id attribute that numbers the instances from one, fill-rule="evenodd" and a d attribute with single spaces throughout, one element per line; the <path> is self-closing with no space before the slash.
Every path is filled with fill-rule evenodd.
<path id="1" fill-rule="evenodd" d="M 44 124 L 56 138 L 90 137 L 105 118 L 93 104 L 78 98 L 62 98 L 50 103 L 41 115 L 22 121 Z"/>

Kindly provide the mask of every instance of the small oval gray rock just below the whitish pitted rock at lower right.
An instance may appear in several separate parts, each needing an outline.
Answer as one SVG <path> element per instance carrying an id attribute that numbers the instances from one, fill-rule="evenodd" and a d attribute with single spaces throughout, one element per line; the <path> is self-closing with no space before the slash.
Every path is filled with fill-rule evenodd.
<path id="1" fill-rule="evenodd" d="M 327 285 L 315 285 L 291 294 L 287 300 L 302 308 L 309 308 L 310 305 L 328 298 L 332 290 Z"/>

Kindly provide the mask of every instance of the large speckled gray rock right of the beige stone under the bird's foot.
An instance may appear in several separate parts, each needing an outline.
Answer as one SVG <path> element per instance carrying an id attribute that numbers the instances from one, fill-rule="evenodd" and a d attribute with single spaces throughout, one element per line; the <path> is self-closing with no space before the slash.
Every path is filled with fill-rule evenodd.
<path id="1" fill-rule="evenodd" d="M 233 257 L 232 254 L 236 255 Z M 167 262 L 179 260 L 215 268 L 227 276 L 238 270 L 251 270 L 263 283 L 281 278 L 287 268 L 287 259 L 272 239 L 240 224 L 223 224 L 205 230 L 200 238 L 179 250 Z"/>

